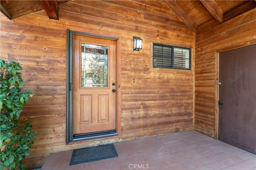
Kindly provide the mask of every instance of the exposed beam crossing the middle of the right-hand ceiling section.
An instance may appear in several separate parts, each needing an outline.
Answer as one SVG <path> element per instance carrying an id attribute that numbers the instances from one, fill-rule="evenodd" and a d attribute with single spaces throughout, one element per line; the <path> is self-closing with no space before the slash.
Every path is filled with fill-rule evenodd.
<path id="1" fill-rule="evenodd" d="M 200 0 L 202 4 L 206 7 L 206 9 L 212 14 L 212 16 L 219 21 L 219 23 L 223 22 L 223 12 L 218 4 L 214 1 L 208 0 Z"/>

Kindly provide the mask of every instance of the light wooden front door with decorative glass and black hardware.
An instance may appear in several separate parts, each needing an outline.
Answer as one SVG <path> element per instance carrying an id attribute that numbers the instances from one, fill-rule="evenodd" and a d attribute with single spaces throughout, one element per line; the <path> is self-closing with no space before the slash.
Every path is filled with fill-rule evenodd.
<path id="1" fill-rule="evenodd" d="M 73 133 L 116 129 L 116 41 L 74 35 Z"/>

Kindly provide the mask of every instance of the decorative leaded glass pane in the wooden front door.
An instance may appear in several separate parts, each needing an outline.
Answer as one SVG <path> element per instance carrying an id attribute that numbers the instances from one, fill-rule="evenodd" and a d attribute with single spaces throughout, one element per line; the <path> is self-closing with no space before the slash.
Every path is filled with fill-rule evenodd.
<path id="1" fill-rule="evenodd" d="M 81 87 L 108 87 L 108 46 L 82 44 Z"/>

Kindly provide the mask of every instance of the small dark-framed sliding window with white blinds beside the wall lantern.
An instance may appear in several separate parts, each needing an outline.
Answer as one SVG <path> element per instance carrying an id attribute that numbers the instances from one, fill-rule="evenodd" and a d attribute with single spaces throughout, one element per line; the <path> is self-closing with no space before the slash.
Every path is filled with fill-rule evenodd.
<path id="1" fill-rule="evenodd" d="M 153 44 L 153 67 L 190 70 L 190 48 Z"/>

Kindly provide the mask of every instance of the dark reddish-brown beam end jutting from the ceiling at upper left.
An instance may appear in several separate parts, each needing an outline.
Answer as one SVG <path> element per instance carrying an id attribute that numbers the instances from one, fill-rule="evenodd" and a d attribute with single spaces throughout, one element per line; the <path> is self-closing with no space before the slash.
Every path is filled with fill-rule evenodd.
<path id="1" fill-rule="evenodd" d="M 41 0 L 41 4 L 44 7 L 49 19 L 59 20 L 59 5 L 58 1 L 45 1 Z"/>

